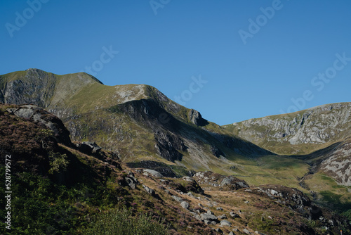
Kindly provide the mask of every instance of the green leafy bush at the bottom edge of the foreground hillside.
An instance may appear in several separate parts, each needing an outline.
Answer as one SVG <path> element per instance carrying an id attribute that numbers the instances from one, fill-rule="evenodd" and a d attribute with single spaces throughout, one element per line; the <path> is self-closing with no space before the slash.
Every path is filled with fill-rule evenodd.
<path id="1" fill-rule="evenodd" d="M 83 234 L 162 235 L 167 234 L 167 229 L 160 220 L 154 221 L 145 214 L 133 217 L 131 211 L 124 208 L 96 215 Z"/>

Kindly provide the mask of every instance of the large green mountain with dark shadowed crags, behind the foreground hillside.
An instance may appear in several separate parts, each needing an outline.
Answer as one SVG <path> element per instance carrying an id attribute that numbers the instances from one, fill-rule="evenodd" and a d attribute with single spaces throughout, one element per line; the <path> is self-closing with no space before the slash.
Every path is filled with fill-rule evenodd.
<path id="1" fill-rule="evenodd" d="M 271 155 L 144 84 L 105 86 L 84 72 L 38 69 L 0 76 L 0 102 L 32 103 L 60 118 L 74 141 L 95 141 L 126 162 L 230 173 L 230 160 Z"/>

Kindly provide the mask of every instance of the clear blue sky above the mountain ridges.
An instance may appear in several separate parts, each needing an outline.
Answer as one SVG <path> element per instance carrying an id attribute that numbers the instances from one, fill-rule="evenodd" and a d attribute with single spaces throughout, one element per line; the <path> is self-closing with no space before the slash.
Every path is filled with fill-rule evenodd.
<path id="1" fill-rule="evenodd" d="M 351 58 L 348 0 L 41 1 L 0 1 L 0 74 L 94 65 L 104 84 L 150 84 L 219 125 L 351 101 L 351 59 L 336 56 Z"/>

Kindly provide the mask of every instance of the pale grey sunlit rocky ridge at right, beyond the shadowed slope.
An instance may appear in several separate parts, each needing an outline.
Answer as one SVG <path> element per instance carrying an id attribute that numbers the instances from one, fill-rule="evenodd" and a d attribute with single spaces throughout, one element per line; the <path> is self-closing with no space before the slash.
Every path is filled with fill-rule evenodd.
<path id="1" fill-rule="evenodd" d="M 275 153 L 303 154 L 351 135 L 351 103 L 333 103 L 296 113 L 226 125 L 243 139 Z"/>

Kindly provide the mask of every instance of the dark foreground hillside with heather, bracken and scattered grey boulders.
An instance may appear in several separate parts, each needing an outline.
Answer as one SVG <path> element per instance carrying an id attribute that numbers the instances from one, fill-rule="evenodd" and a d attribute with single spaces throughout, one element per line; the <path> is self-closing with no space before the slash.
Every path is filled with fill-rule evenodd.
<path id="1" fill-rule="evenodd" d="M 250 186 L 211 171 L 165 177 L 128 167 L 89 142 L 73 144 L 55 115 L 0 104 L 0 160 L 11 155 L 11 220 L 1 234 L 345 234 L 346 217 L 298 189 Z M 7 162 L 7 161 L 6 161 Z M 7 174 L 6 174 L 7 173 Z M 0 204 L 8 203 L 0 191 Z M 5 207 L 4 207 L 5 208 Z M 4 219 L 5 218 L 5 219 Z"/>

